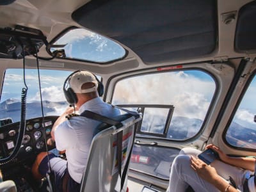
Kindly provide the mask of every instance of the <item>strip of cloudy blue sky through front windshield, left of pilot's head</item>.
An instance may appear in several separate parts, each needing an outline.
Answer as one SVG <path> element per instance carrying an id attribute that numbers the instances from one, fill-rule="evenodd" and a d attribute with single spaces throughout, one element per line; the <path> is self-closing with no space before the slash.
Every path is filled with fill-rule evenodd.
<path id="1" fill-rule="evenodd" d="M 28 100 L 40 100 L 37 70 L 26 69 L 25 74 L 28 86 Z M 54 70 L 40 70 L 43 99 L 51 101 L 65 100 L 63 83 L 69 74 L 71 72 L 60 71 L 56 73 Z M 20 93 L 24 87 L 22 70 L 6 70 L 1 102 L 9 98 L 20 99 Z"/>

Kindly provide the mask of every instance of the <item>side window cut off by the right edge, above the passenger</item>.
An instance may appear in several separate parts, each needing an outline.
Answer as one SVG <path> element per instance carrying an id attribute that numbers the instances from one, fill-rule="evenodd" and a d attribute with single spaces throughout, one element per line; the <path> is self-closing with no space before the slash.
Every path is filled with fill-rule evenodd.
<path id="1" fill-rule="evenodd" d="M 246 90 L 236 114 L 227 129 L 226 141 L 234 147 L 253 148 L 256 144 L 256 76 Z"/>

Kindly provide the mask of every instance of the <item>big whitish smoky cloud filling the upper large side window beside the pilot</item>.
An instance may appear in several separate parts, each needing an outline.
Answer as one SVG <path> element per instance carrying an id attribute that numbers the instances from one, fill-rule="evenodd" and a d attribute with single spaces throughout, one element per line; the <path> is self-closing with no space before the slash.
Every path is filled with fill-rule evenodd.
<path id="1" fill-rule="evenodd" d="M 117 83 L 113 103 L 173 105 L 174 116 L 203 120 L 215 88 L 213 80 L 202 81 L 185 72 L 149 74 Z"/>

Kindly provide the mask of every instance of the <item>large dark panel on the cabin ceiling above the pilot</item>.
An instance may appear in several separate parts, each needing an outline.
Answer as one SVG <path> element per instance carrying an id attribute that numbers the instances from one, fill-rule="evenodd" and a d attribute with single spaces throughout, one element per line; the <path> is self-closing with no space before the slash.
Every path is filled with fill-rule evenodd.
<path id="1" fill-rule="evenodd" d="M 92 0 L 72 19 L 121 42 L 148 64 L 204 56 L 216 48 L 216 0 Z"/>

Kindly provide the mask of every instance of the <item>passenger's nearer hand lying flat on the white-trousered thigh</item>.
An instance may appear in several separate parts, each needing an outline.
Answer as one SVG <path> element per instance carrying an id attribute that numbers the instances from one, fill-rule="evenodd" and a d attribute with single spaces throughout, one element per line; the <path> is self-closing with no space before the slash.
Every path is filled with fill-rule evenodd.
<path id="1" fill-rule="evenodd" d="M 220 177 L 216 172 L 215 168 L 211 165 L 207 165 L 204 161 L 201 161 L 198 158 L 193 156 L 190 157 L 190 165 L 193 170 L 202 177 L 202 179 L 206 180 L 207 182 L 214 183 L 214 181 Z"/>

